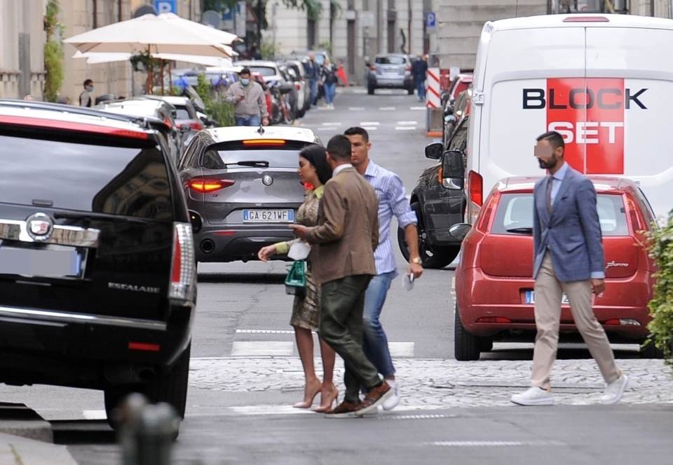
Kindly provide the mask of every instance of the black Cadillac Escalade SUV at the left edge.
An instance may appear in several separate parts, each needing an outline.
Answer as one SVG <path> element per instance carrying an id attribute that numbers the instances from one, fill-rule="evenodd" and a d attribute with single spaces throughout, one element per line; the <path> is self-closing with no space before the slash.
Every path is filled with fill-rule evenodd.
<path id="1" fill-rule="evenodd" d="M 196 304 L 163 138 L 128 116 L 0 100 L 0 382 L 131 391 L 184 416 Z"/>

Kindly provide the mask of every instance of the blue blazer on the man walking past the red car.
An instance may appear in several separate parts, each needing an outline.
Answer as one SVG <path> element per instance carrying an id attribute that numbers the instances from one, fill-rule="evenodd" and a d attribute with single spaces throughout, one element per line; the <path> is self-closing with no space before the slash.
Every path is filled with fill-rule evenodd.
<path id="1" fill-rule="evenodd" d="M 548 214 L 548 182 L 550 177 L 535 183 L 533 278 L 537 278 L 547 251 L 552 255 L 552 264 L 559 281 L 585 281 L 594 272 L 604 272 L 601 225 L 594 185 L 589 178 L 569 167 L 552 211 Z"/>

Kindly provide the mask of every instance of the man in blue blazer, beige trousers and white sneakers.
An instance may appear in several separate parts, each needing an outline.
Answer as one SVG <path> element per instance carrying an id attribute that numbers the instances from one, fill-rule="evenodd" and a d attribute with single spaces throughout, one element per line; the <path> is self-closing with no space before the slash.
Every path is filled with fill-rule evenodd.
<path id="1" fill-rule="evenodd" d="M 519 405 L 552 405 L 550 372 L 559 342 L 562 295 L 606 382 L 601 403 L 618 403 L 628 384 L 618 370 L 603 327 L 592 310 L 592 292 L 605 290 L 601 226 L 592 182 L 564 161 L 563 137 L 538 137 L 535 156 L 549 175 L 535 184 L 533 207 L 535 323 L 532 387 L 512 396 Z"/>

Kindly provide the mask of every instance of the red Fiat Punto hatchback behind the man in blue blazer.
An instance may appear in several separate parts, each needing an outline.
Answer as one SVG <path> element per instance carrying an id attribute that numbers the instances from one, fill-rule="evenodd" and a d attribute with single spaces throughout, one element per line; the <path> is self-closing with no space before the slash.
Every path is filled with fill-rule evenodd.
<path id="1" fill-rule="evenodd" d="M 457 360 L 478 360 L 494 340 L 535 339 L 532 229 L 533 186 L 538 179 L 509 177 L 498 182 L 465 236 L 456 269 Z M 611 342 L 641 343 L 648 337 L 647 304 L 655 271 L 645 231 L 653 227 L 655 217 L 634 182 L 590 179 L 597 193 L 606 260 L 606 290 L 596 297 L 594 313 Z M 578 334 L 566 303 L 560 331 L 562 337 Z M 648 345 L 641 356 L 657 353 Z"/>

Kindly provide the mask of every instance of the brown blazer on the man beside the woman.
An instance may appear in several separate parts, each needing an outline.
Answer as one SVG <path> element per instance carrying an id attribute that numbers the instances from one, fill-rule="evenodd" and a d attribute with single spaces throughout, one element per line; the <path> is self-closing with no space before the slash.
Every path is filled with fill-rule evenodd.
<path id="1" fill-rule="evenodd" d="M 376 274 L 374 250 L 379 245 L 379 201 L 355 168 L 345 168 L 325 184 L 318 226 L 308 229 L 315 281 Z"/>

